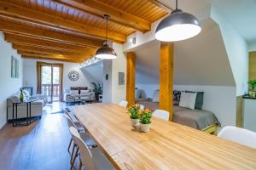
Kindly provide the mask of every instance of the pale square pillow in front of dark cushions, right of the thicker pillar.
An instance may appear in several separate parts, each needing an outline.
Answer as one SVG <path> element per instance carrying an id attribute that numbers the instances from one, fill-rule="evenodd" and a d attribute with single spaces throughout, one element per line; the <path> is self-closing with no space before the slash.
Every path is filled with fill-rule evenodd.
<path id="1" fill-rule="evenodd" d="M 196 94 L 197 93 L 182 92 L 181 95 L 180 95 L 180 101 L 179 101 L 178 106 L 194 110 L 195 109 Z"/>

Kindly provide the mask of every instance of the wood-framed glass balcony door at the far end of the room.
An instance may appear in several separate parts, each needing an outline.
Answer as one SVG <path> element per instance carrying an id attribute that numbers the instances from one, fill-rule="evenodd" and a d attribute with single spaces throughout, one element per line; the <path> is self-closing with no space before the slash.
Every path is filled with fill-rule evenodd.
<path id="1" fill-rule="evenodd" d="M 62 99 L 62 64 L 38 62 L 38 94 L 47 96 L 48 102 Z"/>

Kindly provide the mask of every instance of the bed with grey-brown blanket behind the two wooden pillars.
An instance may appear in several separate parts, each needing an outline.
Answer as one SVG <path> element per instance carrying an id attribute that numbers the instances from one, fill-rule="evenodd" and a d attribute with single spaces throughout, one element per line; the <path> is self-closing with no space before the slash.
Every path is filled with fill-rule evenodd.
<path id="1" fill-rule="evenodd" d="M 138 99 L 137 104 L 144 105 L 152 111 L 159 109 L 158 102 L 152 102 L 148 99 Z M 220 125 L 218 119 L 211 111 L 190 110 L 187 108 L 173 105 L 173 122 L 183 124 L 198 130 L 216 135 L 217 127 Z"/>

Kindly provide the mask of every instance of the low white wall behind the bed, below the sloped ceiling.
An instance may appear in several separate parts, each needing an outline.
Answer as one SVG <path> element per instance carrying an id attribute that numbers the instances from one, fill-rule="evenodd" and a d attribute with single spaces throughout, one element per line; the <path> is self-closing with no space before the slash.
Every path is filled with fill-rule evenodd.
<path id="1" fill-rule="evenodd" d="M 136 87 L 143 89 L 147 97 L 152 98 L 154 90 L 159 89 L 159 84 L 137 84 Z M 203 110 L 212 111 L 222 127 L 236 126 L 236 87 L 174 85 L 173 88 L 204 92 Z"/>

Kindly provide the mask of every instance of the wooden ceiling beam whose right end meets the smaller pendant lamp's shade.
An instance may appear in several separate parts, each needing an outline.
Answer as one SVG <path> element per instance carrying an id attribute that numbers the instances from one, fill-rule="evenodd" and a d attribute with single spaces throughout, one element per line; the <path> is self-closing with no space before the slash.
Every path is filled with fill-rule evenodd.
<path id="1" fill-rule="evenodd" d="M 73 45 L 78 45 L 81 47 L 93 47 L 99 48 L 102 46 L 100 41 L 92 41 L 90 39 L 84 39 L 80 37 L 67 36 L 61 33 L 53 31 L 43 31 L 39 29 L 34 29 L 27 26 L 19 26 L 16 24 L 11 24 L 7 22 L 0 21 L 0 31 L 8 32 L 9 34 L 22 34 L 27 37 L 38 37 L 54 42 L 63 42 Z"/>

